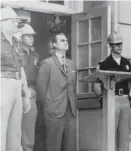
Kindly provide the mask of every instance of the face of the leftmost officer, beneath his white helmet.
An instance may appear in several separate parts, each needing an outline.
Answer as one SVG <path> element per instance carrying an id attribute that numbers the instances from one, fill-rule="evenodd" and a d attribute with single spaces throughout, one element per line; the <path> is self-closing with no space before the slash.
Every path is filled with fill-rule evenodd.
<path id="1" fill-rule="evenodd" d="M 9 32 L 15 33 L 18 31 L 18 20 L 17 19 L 6 19 L 1 22 L 2 28 Z"/>

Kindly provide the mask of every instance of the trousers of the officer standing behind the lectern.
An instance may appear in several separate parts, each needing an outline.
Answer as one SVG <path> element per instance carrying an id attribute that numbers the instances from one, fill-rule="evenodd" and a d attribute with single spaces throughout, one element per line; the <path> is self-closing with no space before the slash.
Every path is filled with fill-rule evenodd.
<path id="1" fill-rule="evenodd" d="M 129 151 L 130 104 L 127 95 L 116 96 L 116 151 Z"/>

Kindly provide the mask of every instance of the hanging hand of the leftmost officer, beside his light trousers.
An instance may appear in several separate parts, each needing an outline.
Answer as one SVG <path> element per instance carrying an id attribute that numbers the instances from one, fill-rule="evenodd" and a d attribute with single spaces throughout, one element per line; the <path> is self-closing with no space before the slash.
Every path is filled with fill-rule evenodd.
<path id="1" fill-rule="evenodd" d="M 31 101 L 29 97 L 23 97 L 23 109 L 24 113 L 27 113 L 31 109 Z"/>

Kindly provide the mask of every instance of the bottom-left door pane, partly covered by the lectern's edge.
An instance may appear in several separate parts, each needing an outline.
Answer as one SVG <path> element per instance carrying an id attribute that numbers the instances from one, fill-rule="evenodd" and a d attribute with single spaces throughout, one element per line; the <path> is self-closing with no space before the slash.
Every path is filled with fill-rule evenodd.
<path id="1" fill-rule="evenodd" d="M 85 76 L 88 76 L 88 71 L 80 71 L 78 73 L 78 93 L 85 93 L 88 92 L 88 83 L 79 82 L 80 78 L 84 78 Z"/>

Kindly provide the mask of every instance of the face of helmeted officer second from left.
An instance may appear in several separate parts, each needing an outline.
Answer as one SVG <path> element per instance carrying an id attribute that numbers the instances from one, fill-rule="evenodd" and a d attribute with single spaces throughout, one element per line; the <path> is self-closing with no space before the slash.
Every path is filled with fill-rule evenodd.
<path id="1" fill-rule="evenodd" d="M 33 46 L 34 44 L 34 37 L 32 34 L 26 34 L 22 36 L 22 42 L 26 46 Z"/>

